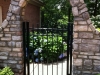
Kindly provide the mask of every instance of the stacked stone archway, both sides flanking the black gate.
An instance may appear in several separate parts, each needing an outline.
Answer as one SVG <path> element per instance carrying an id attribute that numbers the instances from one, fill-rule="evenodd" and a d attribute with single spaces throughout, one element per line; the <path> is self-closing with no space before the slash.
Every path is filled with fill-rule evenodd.
<path id="1" fill-rule="evenodd" d="M 11 0 L 0 27 L 0 67 L 10 66 L 23 75 L 22 25 L 25 0 Z M 84 0 L 70 0 L 74 16 L 73 75 L 100 72 L 100 33 L 92 25 Z M 2 65 L 1 65 L 2 64 Z"/>

